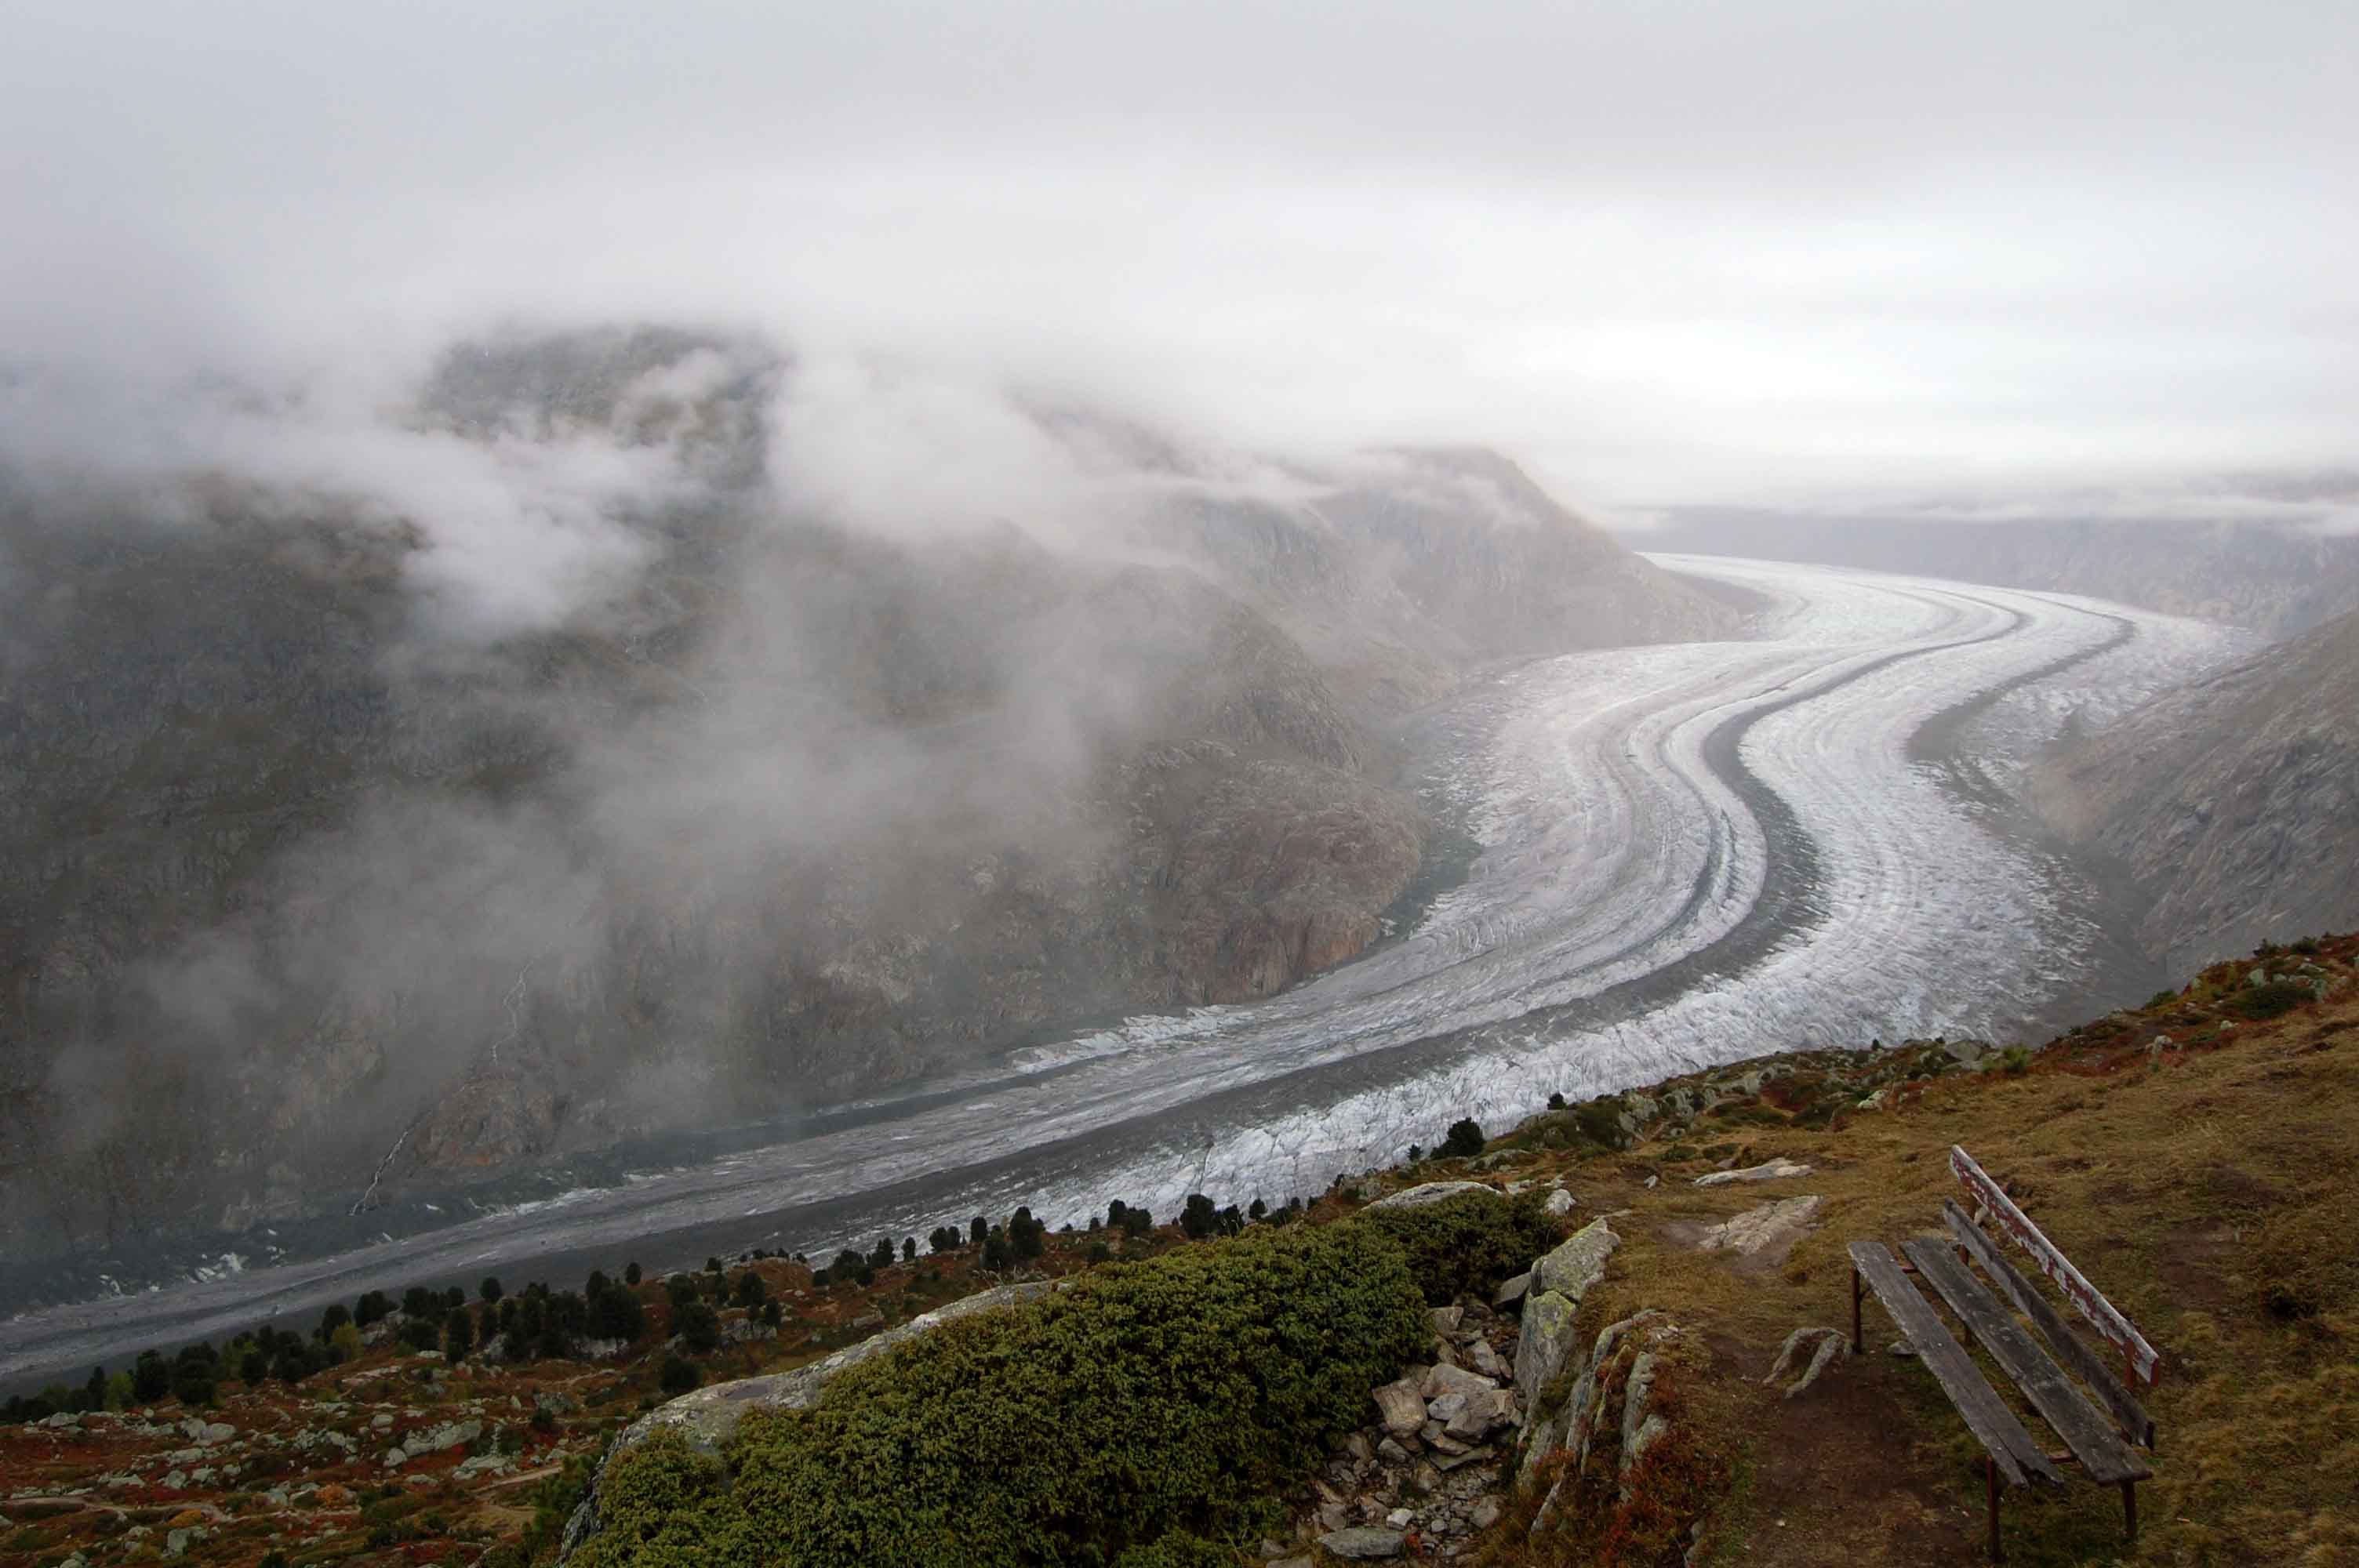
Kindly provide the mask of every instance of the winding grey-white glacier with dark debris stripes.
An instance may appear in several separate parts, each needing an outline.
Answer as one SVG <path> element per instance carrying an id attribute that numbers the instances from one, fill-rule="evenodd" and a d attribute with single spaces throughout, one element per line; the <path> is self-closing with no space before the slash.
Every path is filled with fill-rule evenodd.
<path id="1" fill-rule="evenodd" d="M 1356 964 L 1267 1002 L 1019 1052 L 991 1078 L 790 1141 L 26 1311 L 0 1323 L 0 1384 L 370 1287 L 833 1250 L 1019 1203 L 1057 1224 L 1106 1198 L 1283 1200 L 1460 1115 L 1498 1127 L 1552 1092 L 1989 1033 L 2147 979 L 2107 974 L 2078 868 L 1958 778 L 2005 780 L 2066 714 L 2104 722 L 2229 658 L 2239 634 L 2057 594 L 1658 564 L 1757 594 L 1757 639 L 1573 653 L 1460 693 L 1434 733 L 1463 755 L 1434 776 L 1481 854 Z"/>

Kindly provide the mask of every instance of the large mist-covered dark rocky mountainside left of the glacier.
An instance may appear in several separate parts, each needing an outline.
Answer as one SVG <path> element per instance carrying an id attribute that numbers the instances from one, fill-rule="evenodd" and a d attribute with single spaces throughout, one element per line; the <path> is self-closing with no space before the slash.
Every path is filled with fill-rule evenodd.
<path id="1" fill-rule="evenodd" d="M 1732 625 L 1484 453 L 1281 465 L 1010 401 L 1038 514 L 920 486 L 887 521 L 939 453 L 875 462 L 797 377 L 502 337 L 389 415 L 238 396 L 170 467 L 0 467 L 0 1243 L 1267 995 L 1420 865 L 1399 714 Z M 842 448 L 870 488 L 807 483 Z"/>

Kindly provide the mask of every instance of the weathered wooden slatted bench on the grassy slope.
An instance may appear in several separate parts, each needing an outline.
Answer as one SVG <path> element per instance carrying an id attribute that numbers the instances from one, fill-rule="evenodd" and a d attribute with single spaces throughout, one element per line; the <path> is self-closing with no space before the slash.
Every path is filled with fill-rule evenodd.
<path id="1" fill-rule="evenodd" d="M 2031 1254 L 2043 1273 L 2059 1283 L 2064 1297 L 2081 1309 L 2081 1316 L 2100 1335 L 2121 1346 L 2125 1379 L 2151 1384 L 2161 1358 L 2147 1344 L 2144 1335 L 2015 1207 L 2005 1188 L 1991 1181 L 1974 1165 L 1972 1155 L 1963 1148 L 1951 1148 L 1949 1165 L 1965 1191 L 1989 1210 L 1991 1219 Z M 1885 1304 L 1901 1335 L 1908 1337 L 1908 1344 L 1925 1361 L 1925 1370 L 1934 1375 L 1949 1403 L 1958 1408 L 1967 1429 L 1982 1441 L 1993 1563 L 2000 1561 L 2000 1483 L 2064 1485 L 2059 1464 L 2078 1464 L 2081 1474 L 2097 1485 L 2118 1485 L 2123 1528 L 2130 1540 L 2137 1540 L 2135 1488 L 2154 1471 L 2133 1452 L 2133 1443 L 2149 1452 L 2154 1450 L 2154 1419 L 2123 1379 L 2114 1377 L 2104 1358 L 2071 1330 L 2064 1316 L 2008 1261 L 1998 1243 L 1965 1210 L 1951 1200 L 1941 1200 L 1941 1219 L 1949 1226 L 1949 1236 L 1918 1236 L 1901 1243 L 1906 1264 L 1894 1259 L 1882 1243 L 1852 1243 L 1852 1353 L 1861 1351 L 1859 1316 L 1864 1294 L 1875 1292 L 1875 1299 Z M 1982 1264 L 1991 1285 L 1984 1285 L 1974 1276 L 1972 1264 Z M 2008 1401 L 1998 1396 L 1965 1353 L 1965 1346 L 1951 1337 L 1949 1325 L 1941 1323 L 1941 1313 L 1908 1283 L 1911 1276 L 1932 1285 L 1932 1292 L 1965 1325 L 1967 1337 L 1998 1363 L 1998 1370 L 2022 1389 L 2024 1401 L 2064 1438 L 2066 1452 L 2048 1452 L 2024 1429 Z M 2017 1311 L 2031 1320 L 2038 1337 L 2015 1318 Z M 2045 1339 L 2045 1349 L 2041 1339 Z M 2057 1365 L 2057 1358 L 2064 1365 Z M 2104 1405 L 2104 1412 L 2074 1386 L 2066 1368 L 2088 1384 Z"/>

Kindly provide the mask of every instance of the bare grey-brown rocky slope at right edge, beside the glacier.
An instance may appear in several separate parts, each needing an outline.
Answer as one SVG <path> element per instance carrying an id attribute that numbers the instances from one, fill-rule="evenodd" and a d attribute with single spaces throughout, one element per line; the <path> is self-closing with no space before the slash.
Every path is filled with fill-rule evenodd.
<path id="1" fill-rule="evenodd" d="M 2173 967 L 2359 920 L 2359 613 L 2066 743 L 2029 780 L 2154 903 Z"/>

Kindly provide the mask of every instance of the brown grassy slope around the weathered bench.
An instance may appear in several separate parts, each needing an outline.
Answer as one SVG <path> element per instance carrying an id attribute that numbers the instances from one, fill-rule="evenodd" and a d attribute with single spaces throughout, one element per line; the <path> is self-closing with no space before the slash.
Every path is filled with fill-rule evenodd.
<path id="1" fill-rule="evenodd" d="M 2328 960 L 2347 974 L 2350 943 Z M 2338 995 L 2220 1030 L 2217 1004 L 2246 969 L 2220 967 L 2187 1000 L 2076 1030 L 2022 1073 L 1937 1078 L 1899 1108 L 1845 1113 L 1828 1129 L 1743 1125 L 1715 1139 L 1706 1118 L 1682 1151 L 1698 1158 L 1640 1146 L 1569 1165 L 1583 1207 L 1621 1212 L 1628 1238 L 1583 1318 L 1663 1306 L 1710 1351 L 1710 1372 L 1684 1389 L 1727 1467 L 1706 1561 L 1979 1556 L 1982 1450 L 1916 1361 L 1882 1353 L 1894 1330 L 1873 1297 L 1868 1356 L 1790 1403 L 1755 1382 L 1788 1330 L 1849 1325 L 1849 1240 L 1939 1226 L 1941 1198 L 1958 1195 L 1946 1153 L 1963 1144 L 2166 1358 L 2144 1396 L 2158 1452 L 2137 1547 L 2121 1540 L 2116 1493 L 2074 1481 L 2062 1497 L 2008 1495 L 2010 1561 L 2359 1563 L 2359 1002 Z M 2213 1040 L 2151 1054 L 2156 1033 Z M 1696 1188 L 1691 1177 L 1717 1162 L 1698 1144 L 1739 1141 L 1748 1162 L 1788 1155 L 1816 1172 Z M 1649 1174 L 1661 1177 L 1651 1191 Z M 1793 1193 L 1824 1195 L 1826 1224 L 1776 1269 L 1746 1273 L 1680 1240 L 1684 1226 Z M 1510 1540 L 1529 1507 L 1486 1561 L 1654 1561 L 1618 1556 L 1602 1535 Z"/>

